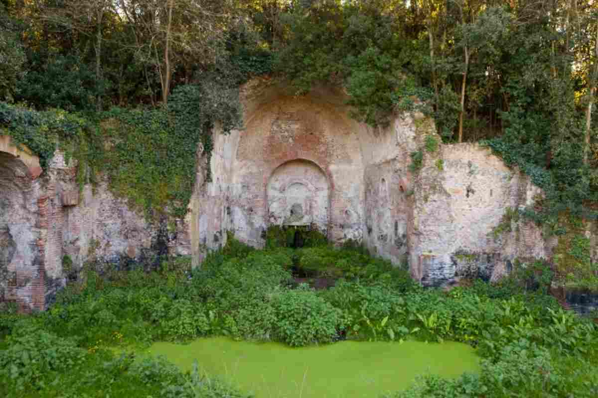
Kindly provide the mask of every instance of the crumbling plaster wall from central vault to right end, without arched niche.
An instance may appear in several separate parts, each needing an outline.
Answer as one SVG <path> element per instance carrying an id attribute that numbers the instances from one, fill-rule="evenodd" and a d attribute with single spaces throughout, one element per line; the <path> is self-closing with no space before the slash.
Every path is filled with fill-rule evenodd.
<path id="1" fill-rule="evenodd" d="M 329 240 L 361 242 L 410 267 L 425 285 L 447 285 L 471 272 L 496 279 L 514 258 L 550 258 L 553 240 L 532 223 L 520 220 L 493 233 L 508 208 L 531 205 L 541 194 L 528 178 L 476 144 L 440 144 L 434 123 L 418 112 L 396 116 L 385 127 L 356 122 L 346 99 L 324 88 L 296 97 L 267 81 L 243 89 L 245 128 L 214 132 L 211 181 L 205 167 L 198 168 L 190 215 L 196 264 L 225 243 L 227 231 L 264 245 L 267 227 L 281 218 L 278 210 L 270 212 L 273 202 L 280 203 L 269 203 L 271 175 L 296 159 L 315 165 L 328 180 Z M 439 143 L 433 153 L 426 137 Z M 418 151 L 419 170 L 411 168 Z M 207 164 L 205 155 L 199 158 Z M 286 172 L 289 181 L 296 172 Z"/>

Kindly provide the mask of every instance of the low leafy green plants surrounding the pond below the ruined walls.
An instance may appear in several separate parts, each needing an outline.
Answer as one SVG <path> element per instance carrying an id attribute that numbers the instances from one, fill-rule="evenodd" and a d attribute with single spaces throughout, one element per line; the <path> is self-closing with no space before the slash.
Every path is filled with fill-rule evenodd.
<path id="1" fill-rule="evenodd" d="M 316 291 L 292 283 L 301 269 L 338 279 Z M 203 388 L 206 395 L 199 396 L 242 396 L 159 359 L 135 360 L 109 350 L 225 335 L 293 346 L 343 338 L 460 341 L 477 347 L 484 358 L 481 374 L 428 376 L 396 396 L 593 397 L 598 327 L 547 295 L 548 271 L 540 263 L 515 264 L 498 285 L 476 281 L 444 292 L 421 288 L 407 271 L 361 249 L 272 245 L 256 251 L 231 236 L 200 269 L 179 260 L 151 273 L 87 270 L 50 310 L 2 314 L 0 391 L 145 397 L 151 390 L 152 396 L 170 397 Z"/>

